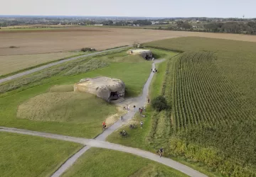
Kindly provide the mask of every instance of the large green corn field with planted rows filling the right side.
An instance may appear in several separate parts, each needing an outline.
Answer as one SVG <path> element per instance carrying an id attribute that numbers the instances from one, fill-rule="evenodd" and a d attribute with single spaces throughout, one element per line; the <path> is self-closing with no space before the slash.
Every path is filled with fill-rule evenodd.
<path id="1" fill-rule="evenodd" d="M 256 43 L 191 37 L 145 45 L 181 52 L 169 61 L 162 91 L 171 113 L 154 115 L 149 142 L 168 139 L 171 156 L 223 176 L 256 176 Z"/>

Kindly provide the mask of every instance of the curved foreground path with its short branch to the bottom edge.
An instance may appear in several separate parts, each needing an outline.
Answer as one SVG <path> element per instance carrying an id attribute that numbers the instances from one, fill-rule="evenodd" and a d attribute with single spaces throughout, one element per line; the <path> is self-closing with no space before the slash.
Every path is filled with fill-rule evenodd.
<path id="1" fill-rule="evenodd" d="M 79 138 L 79 137 L 69 137 L 65 135 L 55 135 L 55 134 L 50 134 L 50 133 L 45 133 L 45 132 L 35 132 L 31 130 L 22 130 L 22 129 L 16 129 L 16 128 L 9 128 L 9 127 L 0 127 L 0 132 L 13 132 L 13 133 L 19 133 L 23 135 L 33 135 L 33 136 L 38 136 L 38 137 L 46 137 L 46 138 L 51 138 L 51 139 L 60 139 L 68 142 L 77 142 L 80 144 L 86 145 L 86 147 L 83 147 L 80 149 L 78 153 L 75 155 L 71 156 L 68 161 L 65 161 L 65 163 L 60 166 L 60 168 L 53 173 L 52 176 L 61 176 L 61 174 L 64 173 L 70 166 L 72 166 L 75 161 L 87 151 L 87 149 L 90 149 L 90 147 L 100 147 L 100 148 L 105 148 L 105 149 L 112 149 L 116 150 L 119 152 L 127 152 L 130 154 L 135 154 L 137 156 L 142 156 L 146 159 L 150 159 L 152 161 L 159 162 L 161 164 L 164 164 L 166 166 L 170 166 L 173 169 L 176 169 L 178 171 L 181 171 L 188 176 L 194 176 L 194 177 L 206 177 L 203 173 L 200 173 L 196 170 L 191 169 L 188 166 L 185 166 L 183 164 L 180 164 L 174 160 L 165 158 L 165 157 L 159 157 L 156 154 L 153 154 L 151 152 L 146 152 L 141 149 L 136 149 L 133 147 L 125 147 L 120 144 L 114 144 L 110 142 L 104 142 L 104 141 L 99 141 L 97 139 L 85 139 L 85 138 Z"/>

